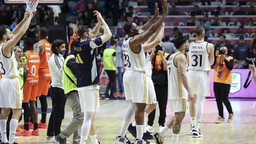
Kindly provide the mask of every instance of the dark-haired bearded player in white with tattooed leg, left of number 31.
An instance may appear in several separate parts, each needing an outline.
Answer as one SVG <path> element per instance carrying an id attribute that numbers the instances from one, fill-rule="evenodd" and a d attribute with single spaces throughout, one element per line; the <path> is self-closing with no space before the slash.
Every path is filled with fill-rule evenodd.
<path id="1" fill-rule="evenodd" d="M 189 51 L 189 41 L 187 35 L 182 35 L 174 39 L 175 47 L 177 51 L 173 53 L 168 60 L 168 99 L 170 99 L 170 107 L 175 116 L 170 118 L 165 127 L 154 134 L 155 142 L 158 144 L 163 143 L 163 137 L 166 132 L 173 128 L 172 134 L 172 144 L 177 144 L 180 134 L 180 127 L 185 117 L 187 110 L 187 99 L 190 102 L 193 96 L 190 92 L 189 82 L 187 80 L 187 60 L 184 52 Z M 165 61 L 163 57 L 163 52 L 159 51 L 162 60 Z"/>

